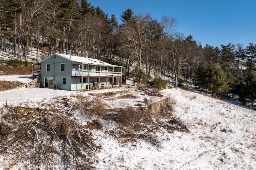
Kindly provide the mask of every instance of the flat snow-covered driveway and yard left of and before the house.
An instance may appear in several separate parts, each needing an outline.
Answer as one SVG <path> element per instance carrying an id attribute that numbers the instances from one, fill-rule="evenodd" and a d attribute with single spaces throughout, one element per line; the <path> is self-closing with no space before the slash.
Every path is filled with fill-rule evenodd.
<path id="1" fill-rule="evenodd" d="M 0 80 L 6 81 L 19 81 L 23 82 L 24 84 L 30 82 L 32 80 L 31 75 L 11 75 L 11 76 L 0 76 Z M 88 95 L 89 93 L 106 93 L 106 92 L 115 92 L 120 90 L 128 90 L 128 88 L 110 88 L 110 89 L 103 89 L 103 90 L 91 90 L 83 92 L 83 94 Z M 17 106 L 24 102 L 38 102 L 41 100 L 54 98 L 57 96 L 67 96 L 70 94 L 80 94 L 79 91 L 67 91 L 67 90 L 54 90 L 53 88 L 17 88 L 13 90 L 3 91 L 0 92 L 0 105 L 8 106 Z M 134 107 L 139 103 L 143 102 L 143 99 L 146 97 L 143 93 L 135 91 L 135 89 L 130 88 L 129 94 L 136 95 L 134 99 L 122 99 L 105 101 L 110 107 L 119 108 L 119 107 Z M 118 95 L 116 95 L 118 96 Z M 113 97 L 113 96 L 112 96 Z M 102 96 L 102 98 L 107 98 L 106 96 Z M 157 102 L 162 100 L 161 97 L 150 97 L 152 102 Z"/>

